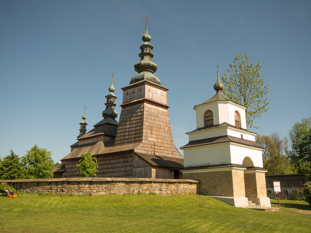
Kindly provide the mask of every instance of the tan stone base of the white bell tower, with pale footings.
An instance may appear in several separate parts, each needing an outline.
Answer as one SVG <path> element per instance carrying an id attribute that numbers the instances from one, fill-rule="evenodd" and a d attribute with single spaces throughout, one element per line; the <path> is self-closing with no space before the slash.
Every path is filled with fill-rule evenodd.
<path id="1" fill-rule="evenodd" d="M 248 207 L 248 200 L 261 207 L 271 207 L 264 172 L 241 167 L 187 169 L 183 170 L 183 178 L 199 181 L 201 195 L 235 207 Z"/>

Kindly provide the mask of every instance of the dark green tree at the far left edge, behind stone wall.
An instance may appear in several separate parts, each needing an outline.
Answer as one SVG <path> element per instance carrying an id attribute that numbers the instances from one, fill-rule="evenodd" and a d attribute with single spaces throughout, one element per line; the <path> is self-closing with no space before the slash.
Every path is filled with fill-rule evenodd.
<path id="1" fill-rule="evenodd" d="M 15 180 L 21 179 L 23 173 L 23 166 L 18 155 L 15 155 L 13 150 L 10 150 L 10 155 L 3 158 L 1 163 L 0 179 Z"/>

